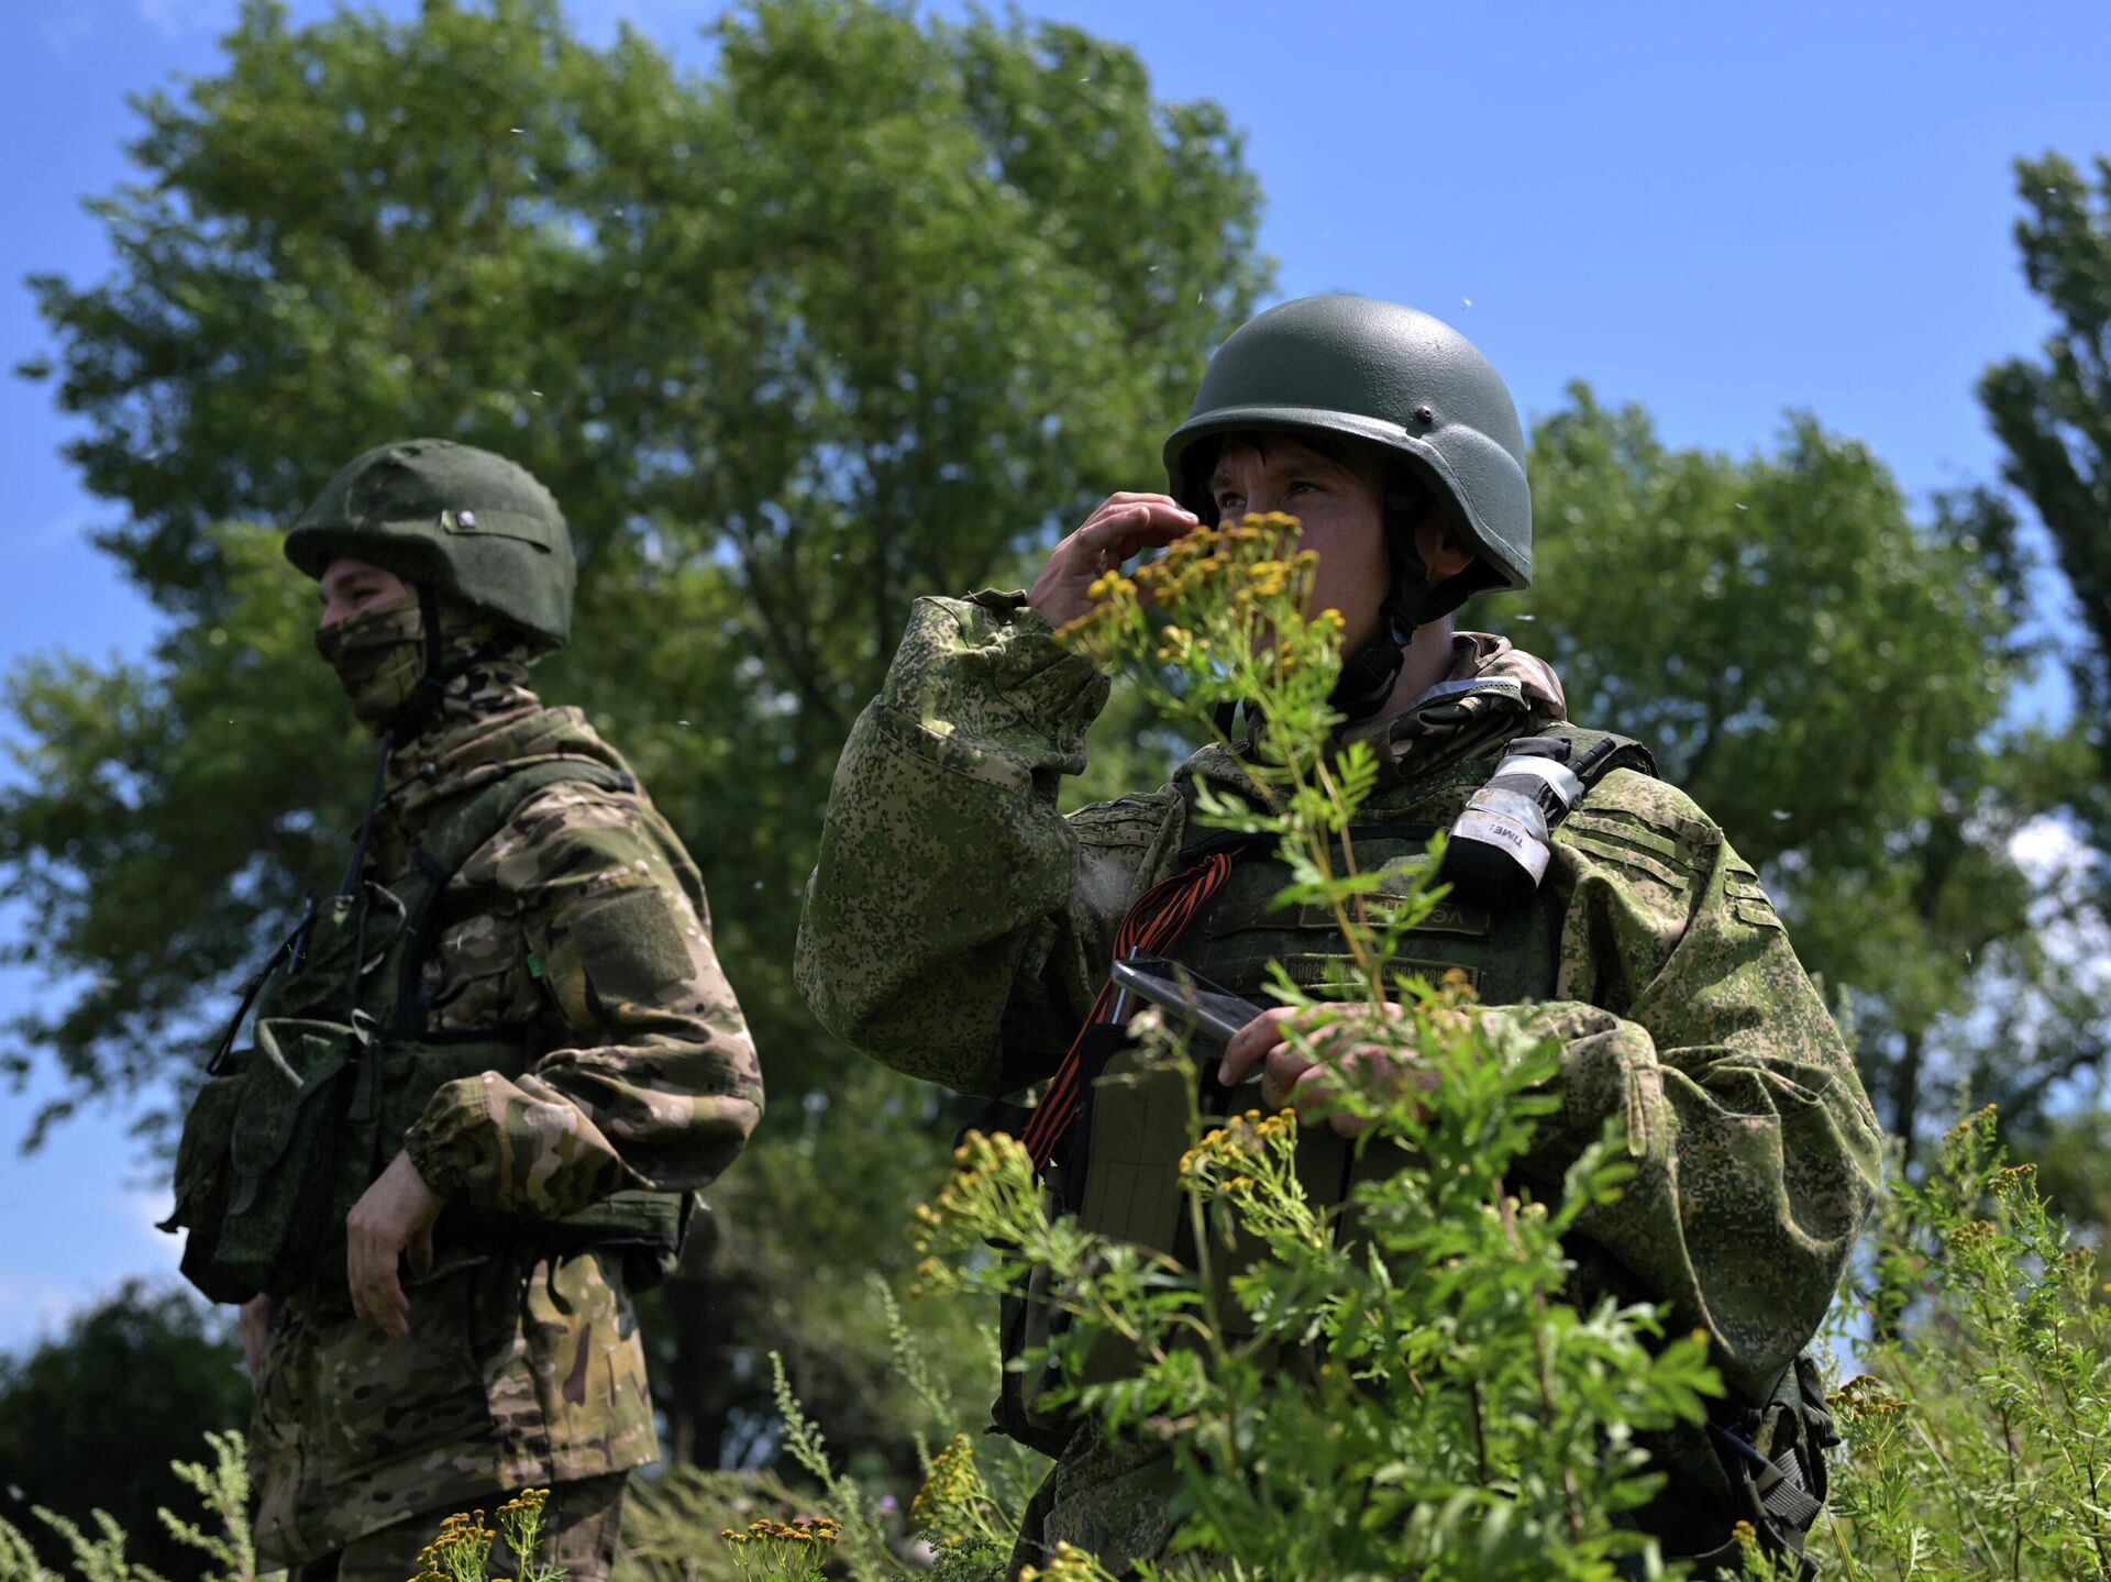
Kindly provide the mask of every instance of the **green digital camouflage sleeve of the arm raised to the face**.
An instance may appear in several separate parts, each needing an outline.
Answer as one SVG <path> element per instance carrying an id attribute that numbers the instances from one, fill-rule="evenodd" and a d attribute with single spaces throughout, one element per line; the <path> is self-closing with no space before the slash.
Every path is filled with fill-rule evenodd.
<path id="1" fill-rule="evenodd" d="M 1169 790 L 1056 811 L 1104 701 L 1022 596 L 916 602 L 836 765 L 800 915 L 798 988 L 832 1033 L 961 1092 L 1053 1071 L 1178 839 Z"/>

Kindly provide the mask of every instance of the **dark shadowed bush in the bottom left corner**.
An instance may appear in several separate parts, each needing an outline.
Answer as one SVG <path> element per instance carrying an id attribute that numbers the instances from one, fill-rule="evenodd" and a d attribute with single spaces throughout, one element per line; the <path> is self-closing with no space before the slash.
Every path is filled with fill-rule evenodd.
<path id="1" fill-rule="evenodd" d="M 57 1567 L 65 1544 L 30 1508 L 95 1531 L 99 1506 L 131 1533 L 129 1559 L 196 1576 L 198 1555 L 154 1517 L 192 1508 L 169 1464 L 194 1459 L 207 1430 L 247 1421 L 249 1375 L 228 1326 L 182 1291 L 127 1282 L 63 1335 L 0 1356 L 0 1517 Z"/>

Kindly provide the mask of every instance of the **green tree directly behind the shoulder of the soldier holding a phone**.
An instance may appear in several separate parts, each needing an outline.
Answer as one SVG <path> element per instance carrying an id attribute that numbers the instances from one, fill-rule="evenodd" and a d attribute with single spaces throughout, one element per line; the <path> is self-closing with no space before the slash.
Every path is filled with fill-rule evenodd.
<path id="1" fill-rule="evenodd" d="M 2090 1046 L 2052 1014 L 2071 963 L 2010 841 L 2077 765 L 2005 722 L 2031 659 L 2014 517 L 1974 492 L 1917 520 L 1809 416 L 1739 460 L 1581 384 L 1530 465 L 1539 570 L 1511 632 L 1763 866 L 1908 1149 L 1946 1088 L 2043 1100 Z"/>

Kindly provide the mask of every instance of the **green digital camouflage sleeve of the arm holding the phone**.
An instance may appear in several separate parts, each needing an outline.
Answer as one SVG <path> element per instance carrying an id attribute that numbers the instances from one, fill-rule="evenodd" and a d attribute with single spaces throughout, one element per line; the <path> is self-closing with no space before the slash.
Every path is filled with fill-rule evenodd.
<path id="1" fill-rule="evenodd" d="M 1562 1111 L 1526 1166 L 1556 1187 L 1613 1122 L 1634 1179 L 1579 1229 L 1758 1396 L 1839 1288 L 1877 1117 L 1758 877 L 1689 798 L 1617 771 L 1558 851 L 1558 999 L 1484 1014 L 1562 1043 Z"/>

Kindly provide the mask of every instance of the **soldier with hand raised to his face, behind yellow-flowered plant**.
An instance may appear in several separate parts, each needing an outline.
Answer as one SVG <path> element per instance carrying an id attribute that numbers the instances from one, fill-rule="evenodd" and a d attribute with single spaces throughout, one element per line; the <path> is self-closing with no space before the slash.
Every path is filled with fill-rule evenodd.
<path id="1" fill-rule="evenodd" d="M 1731 1396 L 1706 1432 L 1657 1443 L 1672 1481 L 1640 1525 L 1668 1555 L 1704 1557 L 1710 1576 L 1735 1569 L 1737 1519 L 1801 1550 L 1830 1440 L 1801 1352 L 1870 1208 L 1877 1124 L 1723 830 L 1653 777 L 1638 743 L 1571 724 L 1552 667 L 1454 629 L 1467 594 L 1530 577 L 1507 389 L 1427 315 L 1353 296 L 1288 302 L 1216 353 L 1165 467 L 1167 494 L 1110 496 L 1032 591 L 914 606 L 836 771 L 798 942 L 809 1005 L 874 1058 L 961 1092 L 1009 1094 L 1058 1073 L 1123 915 L 1193 872 L 1218 836 L 1195 820 L 1197 786 L 1237 794 L 1248 781 L 1235 752 L 1205 748 L 1169 786 L 1058 815 L 1058 777 L 1081 769 L 1106 680 L 1056 627 L 1091 606 L 1100 575 L 1199 522 L 1300 517 L 1319 551 L 1313 606 L 1347 619 L 1340 733 L 1383 762 L 1355 828 L 1359 866 L 1412 872 L 1427 834 L 1501 792 L 1490 781 L 1505 760 L 1507 786 L 1573 803 L 1522 898 L 1454 896 L 1408 955 L 1431 980 L 1465 972 L 1499 1046 L 1560 1041 L 1562 1109 L 1524 1160 L 1541 1195 L 1609 1122 L 1625 1134 L 1634 1181 L 1587 1210 L 1571 1244 L 1583 1295 L 1666 1301 L 1672 1324 L 1712 1341 Z M 1298 908 L 1271 908 L 1286 883 L 1277 862 L 1241 858 L 1172 955 L 1262 1003 L 1271 961 L 1321 982 L 1340 940 L 1330 917 L 1307 927 Z M 1319 1113 L 1328 1073 L 1290 1048 L 1283 1016 L 1243 1029 L 1220 1075 L 1260 1069 L 1264 1103 Z M 1053 1115 L 1051 1179 L 1087 1225 L 1142 1240 L 1131 1227 L 1172 1223 L 1157 1198 L 1178 1191 L 1169 1151 L 1184 1138 L 1148 1136 L 1136 1100 L 1125 1109 L 1131 1092 L 1081 1084 L 1077 1113 Z M 1022 1134 L 1034 1153 L 1034 1126 Z M 1102 1168 L 1108 1138 L 1121 1185 Z M 1024 1322 L 1013 1312 L 1007 1329 Z M 1007 1335 L 1009 1352 L 1022 1345 Z M 1148 1434 L 1108 1438 L 1037 1409 L 1018 1371 L 999 1426 L 1058 1457 L 1015 1569 L 1058 1540 L 1115 1567 L 1163 1548 L 1174 1474 Z"/>

